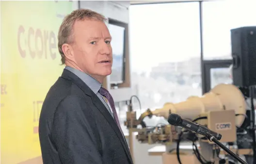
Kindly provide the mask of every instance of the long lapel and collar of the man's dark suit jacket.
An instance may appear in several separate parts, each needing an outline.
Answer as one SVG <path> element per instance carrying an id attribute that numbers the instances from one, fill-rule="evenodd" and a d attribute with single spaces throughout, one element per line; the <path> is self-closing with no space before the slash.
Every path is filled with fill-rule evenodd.
<path id="1" fill-rule="evenodd" d="M 84 94 L 86 94 L 87 96 L 90 96 L 92 98 L 94 105 L 97 107 L 97 109 L 101 112 L 101 114 L 109 122 L 112 129 L 115 131 L 116 135 L 118 136 L 119 140 L 121 141 L 121 143 L 124 147 L 124 150 L 126 151 L 127 156 L 132 164 L 131 155 L 129 152 L 129 148 L 126 144 L 125 138 L 123 137 L 122 133 L 120 132 L 120 130 L 119 130 L 117 124 L 115 123 L 113 117 L 111 116 L 110 112 L 108 111 L 108 109 L 106 109 L 106 107 L 100 101 L 100 99 L 96 96 L 96 94 L 77 75 L 75 75 L 73 72 L 71 72 L 67 69 L 64 69 L 61 77 L 76 84 L 78 87 L 80 87 L 80 89 L 84 92 Z"/>

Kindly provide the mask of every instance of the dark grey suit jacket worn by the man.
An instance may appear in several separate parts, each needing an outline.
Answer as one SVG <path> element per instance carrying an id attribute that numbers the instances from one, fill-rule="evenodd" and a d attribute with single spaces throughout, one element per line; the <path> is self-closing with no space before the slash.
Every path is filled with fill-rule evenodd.
<path id="1" fill-rule="evenodd" d="M 133 164 L 108 109 L 66 69 L 43 103 L 39 139 L 44 164 Z"/>

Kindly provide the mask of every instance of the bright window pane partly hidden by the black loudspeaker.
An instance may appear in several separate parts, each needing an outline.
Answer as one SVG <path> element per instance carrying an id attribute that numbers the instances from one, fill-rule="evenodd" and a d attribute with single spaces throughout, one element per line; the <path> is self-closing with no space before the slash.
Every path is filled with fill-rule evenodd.
<path id="1" fill-rule="evenodd" d="M 255 5 L 255 0 L 202 2 L 203 58 L 205 60 L 232 58 L 230 30 L 256 26 Z"/>

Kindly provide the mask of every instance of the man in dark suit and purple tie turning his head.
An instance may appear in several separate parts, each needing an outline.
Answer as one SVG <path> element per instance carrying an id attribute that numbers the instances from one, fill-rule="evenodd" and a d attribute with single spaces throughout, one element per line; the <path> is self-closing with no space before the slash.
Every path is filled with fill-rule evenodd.
<path id="1" fill-rule="evenodd" d="M 102 87 L 112 72 L 105 20 L 79 9 L 67 15 L 59 29 L 58 48 L 66 67 L 40 114 L 44 164 L 132 164 L 112 96 Z"/>

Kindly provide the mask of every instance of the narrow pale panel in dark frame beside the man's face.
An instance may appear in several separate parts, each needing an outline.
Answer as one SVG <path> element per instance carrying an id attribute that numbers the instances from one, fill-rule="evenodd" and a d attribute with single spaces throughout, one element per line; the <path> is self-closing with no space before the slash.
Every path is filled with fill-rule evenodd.
<path id="1" fill-rule="evenodd" d="M 112 84 L 118 84 L 124 82 L 125 76 L 125 27 L 109 24 L 108 26 L 110 34 L 112 36 L 112 74 L 110 75 L 110 81 Z"/>

